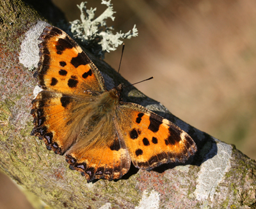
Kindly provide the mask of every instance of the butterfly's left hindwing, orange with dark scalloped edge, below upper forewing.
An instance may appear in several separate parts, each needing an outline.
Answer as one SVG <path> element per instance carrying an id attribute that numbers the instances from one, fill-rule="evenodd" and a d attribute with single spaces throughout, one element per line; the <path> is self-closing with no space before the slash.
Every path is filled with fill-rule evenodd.
<path id="1" fill-rule="evenodd" d="M 76 141 L 79 110 L 81 105 L 86 106 L 86 98 L 82 100 L 62 93 L 41 91 L 32 103 L 35 128 L 31 135 L 44 139 L 48 150 L 65 153 Z"/>

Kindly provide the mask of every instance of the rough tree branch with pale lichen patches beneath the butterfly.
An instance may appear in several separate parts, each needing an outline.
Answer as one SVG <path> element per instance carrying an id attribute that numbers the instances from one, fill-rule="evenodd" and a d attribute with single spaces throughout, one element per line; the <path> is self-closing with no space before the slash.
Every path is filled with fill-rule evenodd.
<path id="1" fill-rule="evenodd" d="M 136 89 L 126 90 L 124 100 L 147 105 L 195 140 L 198 152 L 186 165 L 150 172 L 131 167 L 121 180 L 86 183 L 64 156 L 31 137 L 36 81 L 28 67 L 36 66 L 36 39 L 45 24 L 28 4 L 0 0 L 0 167 L 8 176 L 54 208 L 256 208 L 255 160 L 184 123 Z M 114 70 L 93 61 L 107 88 L 113 87 Z"/>

